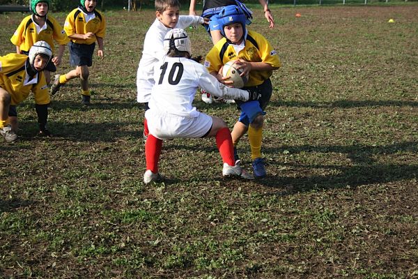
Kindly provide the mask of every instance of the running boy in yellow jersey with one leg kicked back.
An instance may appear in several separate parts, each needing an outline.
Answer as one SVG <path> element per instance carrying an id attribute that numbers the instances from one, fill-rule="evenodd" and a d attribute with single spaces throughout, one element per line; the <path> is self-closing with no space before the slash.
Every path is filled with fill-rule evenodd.
<path id="1" fill-rule="evenodd" d="M 103 59 L 103 38 L 106 31 L 106 22 L 100 11 L 95 9 L 97 0 L 80 0 L 78 8 L 68 14 L 64 30 L 70 38 L 70 63 L 76 66 L 65 75 L 55 75 L 51 94 L 54 95 L 62 84 L 80 78 L 82 85 L 82 104 L 90 105 L 90 90 L 88 89 L 88 67 L 93 62 L 95 42 L 98 42 L 98 56 Z"/>

